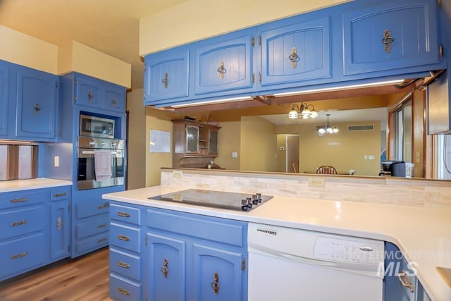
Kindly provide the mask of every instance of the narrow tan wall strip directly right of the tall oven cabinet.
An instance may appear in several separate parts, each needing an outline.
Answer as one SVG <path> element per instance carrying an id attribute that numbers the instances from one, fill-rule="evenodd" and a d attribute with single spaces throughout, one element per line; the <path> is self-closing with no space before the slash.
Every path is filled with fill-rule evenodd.
<path id="1" fill-rule="evenodd" d="M 127 189 L 146 186 L 146 109 L 142 106 L 143 90 L 127 93 L 128 111 L 128 183 Z"/>

